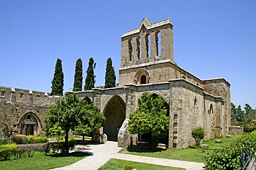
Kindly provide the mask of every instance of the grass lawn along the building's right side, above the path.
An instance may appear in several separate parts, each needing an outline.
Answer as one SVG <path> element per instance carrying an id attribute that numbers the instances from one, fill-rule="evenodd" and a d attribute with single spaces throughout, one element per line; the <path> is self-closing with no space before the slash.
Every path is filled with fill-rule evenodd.
<path id="1" fill-rule="evenodd" d="M 185 148 L 185 149 L 161 149 L 161 148 L 153 148 L 149 149 L 149 147 L 145 144 L 139 144 L 137 146 L 124 147 L 120 153 L 127 153 L 131 155 L 137 156 L 149 156 L 154 158 L 165 158 L 171 160 L 185 160 L 190 162 L 201 162 L 205 163 L 203 160 L 203 156 L 206 153 L 212 152 L 214 149 L 220 149 L 221 145 L 229 145 L 235 138 L 239 138 L 241 135 L 231 136 L 231 138 L 226 138 L 226 136 L 222 136 L 222 138 L 212 138 L 210 140 L 203 141 L 203 145 L 208 145 L 208 149 L 201 148 Z M 216 143 L 215 140 L 221 139 L 221 143 Z"/>

